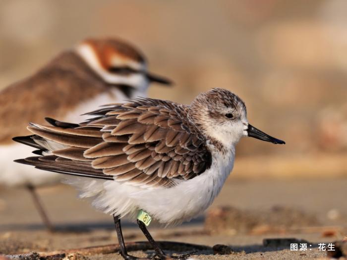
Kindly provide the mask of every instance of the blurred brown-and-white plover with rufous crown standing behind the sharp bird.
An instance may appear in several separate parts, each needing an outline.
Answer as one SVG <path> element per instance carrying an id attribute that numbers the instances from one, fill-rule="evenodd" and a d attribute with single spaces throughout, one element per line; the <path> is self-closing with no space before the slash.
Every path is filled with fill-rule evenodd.
<path id="1" fill-rule="evenodd" d="M 137 49 L 116 39 L 88 39 L 74 50 L 62 52 L 34 75 L 2 90 L 0 184 L 27 187 L 44 223 L 52 230 L 35 187 L 55 183 L 61 176 L 14 164 L 13 159 L 30 150 L 11 138 L 28 134 L 27 123 L 44 123 L 45 116 L 80 122 L 85 118 L 80 114 L 96 106 L 145 97 L 151 82 L 170 84 L 148 72 L 146 59 Z"/>

